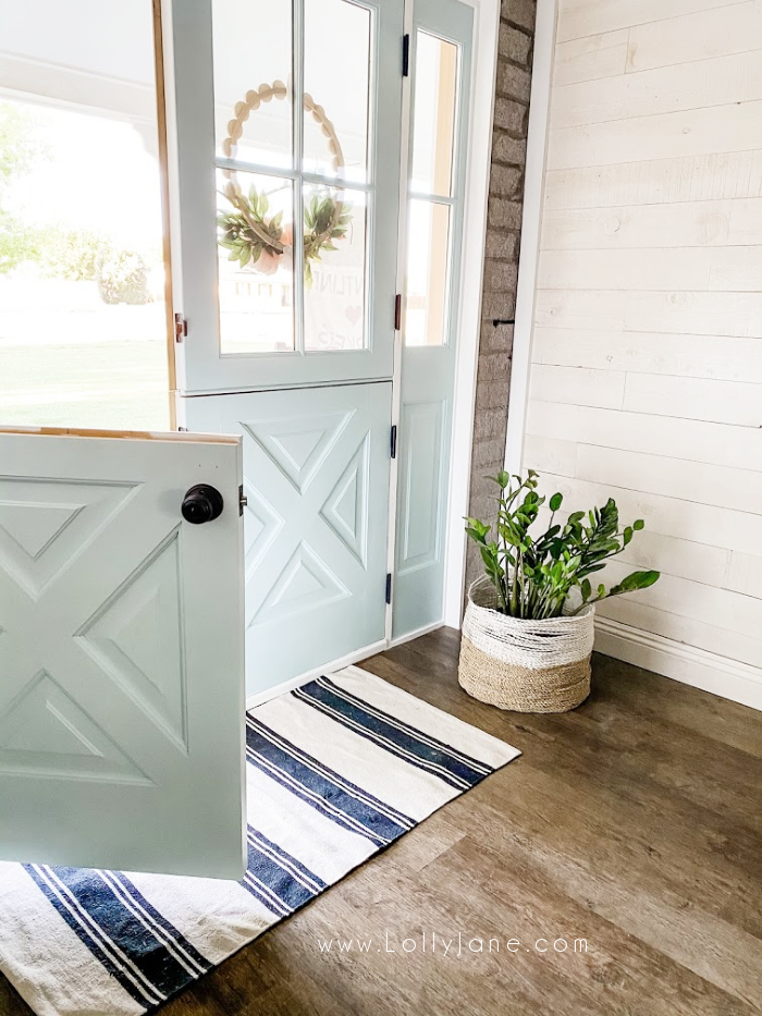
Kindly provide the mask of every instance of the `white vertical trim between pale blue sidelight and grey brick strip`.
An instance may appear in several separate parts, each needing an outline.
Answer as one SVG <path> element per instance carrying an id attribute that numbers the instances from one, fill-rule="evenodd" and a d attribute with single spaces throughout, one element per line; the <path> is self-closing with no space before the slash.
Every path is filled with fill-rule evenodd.
<path id="1" fill-rule="evenodd" d="M 468 113 L 468 166 L 460 261 L 453 439 L 447 495 L 443 619 L 444 624 L 453 628 L 460 627 L 463 584 L 466 574 L 466 536 L 463 517 L 468 514 L 471 445 L 474 443 L 487 199 L 490 187 L 492 118 L 500 35 L 500 0 L 466 0 L 466 2 L 474 8 L 474 54 Z"/>

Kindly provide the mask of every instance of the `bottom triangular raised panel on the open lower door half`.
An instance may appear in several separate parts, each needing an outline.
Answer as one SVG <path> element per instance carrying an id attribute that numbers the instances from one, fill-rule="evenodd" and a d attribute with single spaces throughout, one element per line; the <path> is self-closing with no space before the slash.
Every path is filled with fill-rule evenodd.
<path id="1" fill-rule="evenodd" d="M 61 685 L 40 671 L 0 715 L 0 771 L 151 784 Z"/>

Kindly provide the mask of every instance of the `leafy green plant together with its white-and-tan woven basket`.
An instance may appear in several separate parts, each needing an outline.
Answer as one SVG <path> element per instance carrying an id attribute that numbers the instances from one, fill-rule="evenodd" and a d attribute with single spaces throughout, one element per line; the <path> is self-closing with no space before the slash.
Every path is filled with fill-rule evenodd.
<path id="1" fill-rule="evenodd" d="M 546 500 L 537 492 L 538 474 L 501 472 L 490 479 L 499 487 L 494 523 L 466 519 L 486 574 L 469 589 L 458 681 L 469 695 L 502 709 L 566 712 L 590 694 L 594 604 L 659 578 L 659 572 L 632 572 L 597 588 L 590 578 L 644 523 L 638 518 L 619 530 L 612 498 L 557 523 L 563 498 L 554 493 L 548 528 L 536 534 Z"/>

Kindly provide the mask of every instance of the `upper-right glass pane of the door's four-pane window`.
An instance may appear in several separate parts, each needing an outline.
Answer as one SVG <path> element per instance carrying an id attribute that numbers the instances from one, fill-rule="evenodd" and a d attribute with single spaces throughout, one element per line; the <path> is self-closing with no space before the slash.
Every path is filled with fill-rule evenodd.
<path id="1" fill-rule="evenodd" d="M 347 0 L 305 3 L 304 169 L 365 182 L 370 11 Z"/>

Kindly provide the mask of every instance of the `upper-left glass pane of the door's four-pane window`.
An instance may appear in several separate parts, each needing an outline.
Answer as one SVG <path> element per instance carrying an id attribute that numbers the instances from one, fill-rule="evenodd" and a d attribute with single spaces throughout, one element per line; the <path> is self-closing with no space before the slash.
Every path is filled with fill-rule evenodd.
<path id="1" fill-rule="evenodd" d="M 292 5 L 213 0 L 217 154 L 287 169 L 292 139 Z"/>

